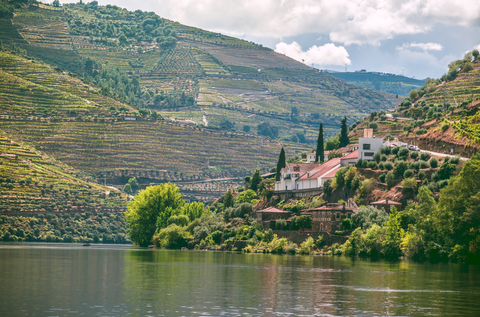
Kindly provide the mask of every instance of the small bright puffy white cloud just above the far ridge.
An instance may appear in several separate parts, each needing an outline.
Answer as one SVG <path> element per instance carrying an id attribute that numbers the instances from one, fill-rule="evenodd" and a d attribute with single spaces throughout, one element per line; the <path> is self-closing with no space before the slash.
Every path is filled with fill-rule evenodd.
<path id="1" fill-rule="evenodd" d="M 343 46 L 335 46 L 333 43 L 328 43 L 323 46 L 314 45 L 305 52 L 297 42 L 292 42 L 291 44 L 281 42 L 275 46 L 275 52 L 285 54 L 288 57 L 308 65 L 343 66 L 345 64 L 352 64 L 348 58 L 347 50 Z"/>

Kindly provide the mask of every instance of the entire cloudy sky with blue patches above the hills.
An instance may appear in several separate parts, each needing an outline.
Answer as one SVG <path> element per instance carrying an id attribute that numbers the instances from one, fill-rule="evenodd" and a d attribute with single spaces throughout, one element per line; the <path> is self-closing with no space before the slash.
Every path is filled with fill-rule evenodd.
<path id="1" fill-rule="evenodd" d="M 154 11 L 268 46 L 320 69 L 344 71 L 346 66 L 348 71 L 403 71 L 409 77 L 438 78 L 449 62 L 480 47 L 479 0 L 98 2 Z"/>

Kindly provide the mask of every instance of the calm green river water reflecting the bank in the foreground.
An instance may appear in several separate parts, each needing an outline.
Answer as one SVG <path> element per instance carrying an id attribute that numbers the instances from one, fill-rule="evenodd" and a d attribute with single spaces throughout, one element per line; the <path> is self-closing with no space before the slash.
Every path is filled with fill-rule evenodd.
<path id="1" fill-rule="evenodd" d="M 480 268 L 0 244 L 0 316 L 479 316 Z"/>

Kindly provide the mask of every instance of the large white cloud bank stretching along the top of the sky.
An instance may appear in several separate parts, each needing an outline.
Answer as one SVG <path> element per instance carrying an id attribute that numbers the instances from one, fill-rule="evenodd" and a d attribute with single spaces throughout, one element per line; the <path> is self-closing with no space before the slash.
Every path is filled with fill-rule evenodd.
<path id="1" fill-rule="evenodd" d="M 122 2 L 116 0 L 114 2 Z M 418 34 L 438 24 L 480 25 L 478 0 L 145 0 L 181 23 L 233 36 L 327 33 L 344 45 Z"/>

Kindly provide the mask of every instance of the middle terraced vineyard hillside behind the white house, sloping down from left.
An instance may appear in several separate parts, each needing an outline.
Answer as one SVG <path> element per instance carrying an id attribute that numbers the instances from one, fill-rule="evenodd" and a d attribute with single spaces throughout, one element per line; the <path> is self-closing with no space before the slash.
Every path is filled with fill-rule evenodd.
<path id="1" fill-rule="evenodd" d="M 38 61 L 0 52 L 1 130 L 15 135 L 94 180 L 123 186 L 175 181 L 208 197 L 211 178 L 238 187 L 255 168 L 274 164 L 278 142 L 245 132 L 163 120 L 137 111 L 75 76 Z M 135 121 L 127 121 L 132 119 Z M 291 155 L 307 148 L 286 143 Z M 190 184 L 190 185 L 189 185 Z M 182 186 L 181 186 L 182 187 Z"/>

